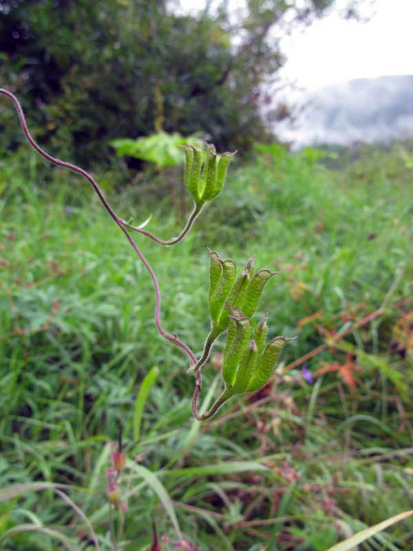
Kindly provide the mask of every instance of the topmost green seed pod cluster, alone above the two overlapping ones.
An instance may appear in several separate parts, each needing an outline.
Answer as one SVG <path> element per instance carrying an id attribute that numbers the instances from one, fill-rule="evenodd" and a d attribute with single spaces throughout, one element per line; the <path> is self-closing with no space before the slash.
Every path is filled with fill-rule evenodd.
<path id="1" fill-rule="evenodd" d="M 220 193 L 235 153 L 218 155 L 212 144 L 206 144 L 206 151 L 193 145 L 184 145 L 183 149 L 186 158 L 185 185 L 200 207 Z"/>

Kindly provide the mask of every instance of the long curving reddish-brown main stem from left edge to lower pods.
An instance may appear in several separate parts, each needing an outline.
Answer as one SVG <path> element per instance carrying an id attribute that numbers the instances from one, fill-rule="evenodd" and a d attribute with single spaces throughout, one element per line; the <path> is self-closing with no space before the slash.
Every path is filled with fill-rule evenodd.
<path id="1" fill-rule="evenodd" d="M 53 163 L 54 165 L 58 165 L 60 167 L 65 167 L 65 168 L 70 169 L 74 172 L 77 172 L 78 174 L 81 174 L 81 176 L 86 178 L 89 181 L 90 185 L 92 185 L 94 191 L 96 191 L 96 194 L 97 194 L 98 198 L 100 199 L 100 202 L 102 202 L 103 207 L 105 207 L 107 213 L 112 218 L 112 220 L 114 220 L 115 224 L 120 228 L 120 230 L 123 231 L 123 233 L 125 233 L 125 236 L 126 236 L 127 240 L 129 241 L 131 247 L 133 247 L 134 251 L 136 252 L 138 257 L 140 258 L 142 264 L 144 264 L 145 268 L 149 272 L 149 275 L 150 275 L 151 280 L 153 282 L 153 289 L 155 290 L 155 297 L 156 297 L 155 323 L 156 323 L 156 327 L 158 328 L 159 333 L 162 335 L 162 337 L 169 340 L 169 342 L 171 342 L 173 344 L 176 344 L 176 346 L 179 346 L 180 349 L 182 349 L 185 353 L 187 353 L 187 355 L 189 356 L 190 362 L 191 362 L 191 366 L 195 365 L 196 364 L 196 357 L 195 357 L 194 353 L 191 351 L 191 349 L 189 348 L 189 346 L 187 346 L 187 344 L 184 344 L 184 342 L 182 342 L 180 339 L 178 339 L 178 337 L 176 335 L 170 335 L 169 333 L 167 333 L 167 331 L 165 331 L 165 329 L 163 329 L 162 324 L 160 322 L 160 289 L 159 289 L 159 284 L 158 284 L 158 280 L 156 278 L 156 275 L 153 272 L 153 269 L 151 268 L 151 265 L 149 264 L 149 262 L 147 261 L 145 256 L 143 256 L 143 254 L 140 252 L 140 249 L 138 248 L 138 246 L 136 245 L 134 240 L 131 238 L 131 236 L 129 236 L 129 233 L 128 233 L 127 229 L 125 228 L 123 220 L 121 220 L 115 214 L 112 207 L 110 207 L 109 203 L 107 202 L 105 196 L 103 195 L 102 191 L 100 190 L 100 187 L 98 186 L 98 184 L 96 183 L 94 178 L 87 171 L 83 170 L 81 167 L 78 167 L 76 165 L 72 165 L 72 163 L 66 163 L 65 161 L 60 160 L 58 158 L 54 158 L 51 155 L 49 155 L 48 153 L 46 153 L 39 145 L 37 145 L 37 143 L 34 141 L 34 139 L 32 138 L 32 136 L 29 132 L 28 125 L 25 121 L 25 116 L 23 114 L 23 110 L 21 108 L 21 105 L 20 105 L 19 100 L 17 99 L 17 97 L 14 96 L 14 94 L 12 94 L 12 92 L 8 92 L 8 90 L 3 90 L 3 88 L 0 88 L 0 94 L 3 94 L 4 96 L 7 96 L 14 103 L 14 107 L 16 107 L 17 115 L 19 116 L 19 121 L 20 121 L 21 127 L 23 129 L 24 135 L 27 138 L 30 145 L 36 150 L 36 152 L 38 152 L 42 157 L 44 157 L 45 159 L 47 159 L 48 161 L 50 161 L 50 163 Z"/>

